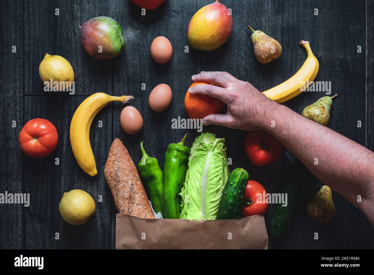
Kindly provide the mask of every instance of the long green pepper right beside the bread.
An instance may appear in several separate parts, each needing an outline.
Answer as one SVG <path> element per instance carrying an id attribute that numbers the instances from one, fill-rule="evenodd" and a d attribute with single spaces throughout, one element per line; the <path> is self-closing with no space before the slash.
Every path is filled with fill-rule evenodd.
<path id="1" fill-rule="evenodd" d="M 153 210 L 164 215 L 163 173 L 156 158 L 149 157 L 140 143 L 142 158 L 138 164 L 139 176 L 152 202 Z"/>

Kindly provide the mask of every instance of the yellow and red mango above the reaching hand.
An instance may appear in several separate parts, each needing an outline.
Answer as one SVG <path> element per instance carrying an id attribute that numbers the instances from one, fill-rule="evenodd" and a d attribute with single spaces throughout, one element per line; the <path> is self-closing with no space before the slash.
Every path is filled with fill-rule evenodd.
<path id="1" fill-rule="evenodd" d="M 215 50 L 229 39 L 232 30 L 231 12 L 216 0 L 192 16 L 187 30 L 188 43 L 197 50 Z"/>

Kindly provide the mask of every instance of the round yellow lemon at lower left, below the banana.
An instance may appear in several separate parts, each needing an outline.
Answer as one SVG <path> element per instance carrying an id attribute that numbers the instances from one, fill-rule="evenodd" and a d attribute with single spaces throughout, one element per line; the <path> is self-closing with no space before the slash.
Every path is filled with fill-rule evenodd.
<path id="1" fill-rule="evenodd" d="M 95 213 L 95 201 L 87 192 L 74 189 L 64 193 L 59 205 L 60 214 L 65 222 L 83 225 Z"/>

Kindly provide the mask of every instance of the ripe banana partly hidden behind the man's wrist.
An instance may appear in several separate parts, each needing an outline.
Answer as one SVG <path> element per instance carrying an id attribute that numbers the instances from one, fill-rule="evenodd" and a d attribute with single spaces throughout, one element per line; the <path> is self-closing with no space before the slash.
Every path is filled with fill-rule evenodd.
<path id="1" fill-rule="evenodd" d="M 268 98 L 278 103 L 283 103 L 291 98 L 294 98 L 307 88 L 306 83 L 311 83 L 318 73 L 318 60 L 313 55 L 308 41 L 301 40 L 300 45 L 303 45 L 307 52 L 307 59 L 303 66 L 291 78 L 273 87 L 270 90 L 263 92 Z"/>

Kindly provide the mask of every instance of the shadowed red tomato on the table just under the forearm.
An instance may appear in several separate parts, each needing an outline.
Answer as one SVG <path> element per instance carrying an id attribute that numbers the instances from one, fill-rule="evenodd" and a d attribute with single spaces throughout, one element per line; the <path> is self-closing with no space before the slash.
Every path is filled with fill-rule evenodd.
<path id="1" fill-rule="evenodd" d="M 244 151 L 251 163 L 265 166 L 281 158 L 283 145 L 269 133 L 255 130 L 245 138 Z"/>

